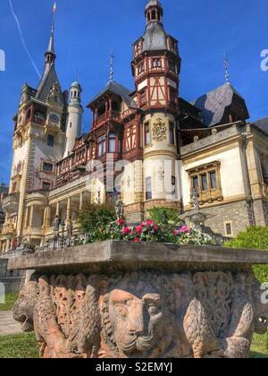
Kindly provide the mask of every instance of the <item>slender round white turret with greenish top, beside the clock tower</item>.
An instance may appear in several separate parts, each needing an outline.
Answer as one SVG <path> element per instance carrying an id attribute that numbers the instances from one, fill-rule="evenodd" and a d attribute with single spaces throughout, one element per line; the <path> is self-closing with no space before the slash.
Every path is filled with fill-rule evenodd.
<path id="1" fill-rule="evenodd" d="M 70 89 L 64 158 L 71 153 L 75 140 L 81 135 L 82 115 L 84 112 L 81 106 L 81 92 L 80 83 L 78 81 L 73 82 Z"/>

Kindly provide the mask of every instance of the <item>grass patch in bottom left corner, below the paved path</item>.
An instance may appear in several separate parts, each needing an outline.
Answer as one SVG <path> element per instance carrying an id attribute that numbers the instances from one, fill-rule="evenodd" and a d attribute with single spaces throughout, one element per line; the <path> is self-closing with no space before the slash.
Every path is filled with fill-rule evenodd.
<path id="1" fill-rule="evenodd" d="M 0 337 L 0 358 L 38 358 L 39 350 L 35 335 Z"/>

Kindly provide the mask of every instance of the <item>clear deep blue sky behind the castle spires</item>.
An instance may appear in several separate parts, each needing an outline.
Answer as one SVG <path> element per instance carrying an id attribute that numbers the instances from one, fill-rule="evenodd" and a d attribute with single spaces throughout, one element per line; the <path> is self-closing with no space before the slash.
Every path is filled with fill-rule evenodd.
<path id="1" fill-rule="evenodd" d="M 10 8 L 0 0 L 0 49 L 6 71 L 0 72 L 0 180 L 8 183 L 12 163 L 12 117 L 21 86 L 37 86 Z M 131 44 L 144 32 L 146 0 L 57 0 L 56 69 L 63 89 L 76 72 L 86 104 L 109 79 L 109 54 L 115 54 L 114 80 L 134 89 Z M 13 0 L 21 30 L 42 72 L 52 21 L 53 0 Z M 163 0 L 165 30 L 180 41 L 180 96 L 188 100 L 224 82 L 223 53 L 229 56 L 230 81 L 247 100 L 252 120 L 268 115 L 268 72 L 260 69 L 268 48 L 267 0 Z M 86 110 L 84 130 L 90 126 Z"/>

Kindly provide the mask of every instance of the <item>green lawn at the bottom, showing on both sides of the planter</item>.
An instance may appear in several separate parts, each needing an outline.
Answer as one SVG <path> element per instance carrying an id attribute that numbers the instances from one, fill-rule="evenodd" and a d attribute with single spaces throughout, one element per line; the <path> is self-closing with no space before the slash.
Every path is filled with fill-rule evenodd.
<path id="1" fill-rule="evenodd" d="M 268 336 L 256 336 L 252 345 L 252 358 L 268 359 Z M 34 334 L 0 337 L 0 358 L 38 358 L 38 345 Z"/>

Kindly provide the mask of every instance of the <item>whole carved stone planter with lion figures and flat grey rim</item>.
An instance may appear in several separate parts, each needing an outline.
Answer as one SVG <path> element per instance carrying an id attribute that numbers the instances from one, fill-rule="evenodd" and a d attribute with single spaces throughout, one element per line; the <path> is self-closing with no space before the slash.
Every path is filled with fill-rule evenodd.
<path id="1" fill-rule="evenodd" d="M 268 252 L 104 242 L 25 254 L 13 309 L 43 358 L 247 358 L 267 331 Z"/>

